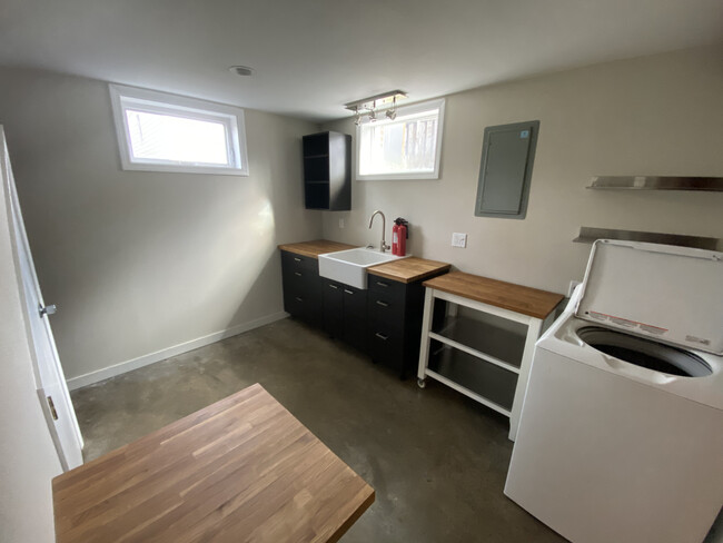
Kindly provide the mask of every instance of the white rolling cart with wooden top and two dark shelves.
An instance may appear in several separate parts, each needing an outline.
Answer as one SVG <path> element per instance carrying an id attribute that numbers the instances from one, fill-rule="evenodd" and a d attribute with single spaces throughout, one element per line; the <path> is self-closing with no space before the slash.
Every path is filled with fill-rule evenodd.
<path id="1" fill-rule="evenodd" d="M 514 441 L 535 342 L 563 295 L 460 272 L 424 286 L 418 385 L 432 377 L 509 417 Z"/>

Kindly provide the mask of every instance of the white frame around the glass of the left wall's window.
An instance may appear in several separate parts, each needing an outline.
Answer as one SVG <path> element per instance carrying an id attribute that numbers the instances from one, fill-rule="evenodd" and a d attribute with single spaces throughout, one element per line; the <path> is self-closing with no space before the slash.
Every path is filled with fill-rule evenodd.
<path id="1" fill-rule="evenodd" d="M 246 124 L 241 108 L 116 83 L 109 85 L 109 90 L 116 135 L 118 137 L 118 148 L 120 150 L 120 165 L 123 170 L 244 177 L 249 175 L 248 154 L 246 149 Z M 229 157 L 229 162 L 232 166 L 228 164 L 212 166 L 207 162 L 135 158 L 132 156 L 126 109 L 221 122 L 226 127 L 226 151 Z"/>

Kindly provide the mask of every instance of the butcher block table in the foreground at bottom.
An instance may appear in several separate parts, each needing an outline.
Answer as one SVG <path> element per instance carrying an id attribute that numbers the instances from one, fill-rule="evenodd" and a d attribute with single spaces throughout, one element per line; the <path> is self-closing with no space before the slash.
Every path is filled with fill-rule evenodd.
<path id="1" fill-rule="evenodd" d="M 256 384 L 57 476 L 66 542 L 333 542 L 374 490 Z"/>

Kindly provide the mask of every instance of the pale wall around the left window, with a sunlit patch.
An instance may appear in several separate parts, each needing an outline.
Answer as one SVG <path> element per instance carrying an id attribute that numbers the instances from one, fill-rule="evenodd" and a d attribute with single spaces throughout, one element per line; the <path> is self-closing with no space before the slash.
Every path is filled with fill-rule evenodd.
<path id="1" fill-rule="evenodd" d="M 71 386 L 281 315 L 276 245 L 321 235 L 301 188 L 315 125 L 246 110 L 244 178 L 122 171 L 102 81 L 0 69 L 0 121 Z"/>

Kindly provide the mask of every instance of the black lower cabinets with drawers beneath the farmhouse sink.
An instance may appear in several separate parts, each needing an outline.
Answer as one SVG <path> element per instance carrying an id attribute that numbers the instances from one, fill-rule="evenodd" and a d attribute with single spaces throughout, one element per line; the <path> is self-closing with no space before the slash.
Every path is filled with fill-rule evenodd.
<path id="1" fill-rule="evenodd" d="M 400 283 L 369 272 L 368 288 L 361 290 L 319 277 L 315 258 L 285 250 L 281 270 L 284 308 L 291 316 L 368 354 L 402 378 L 415 372 L 424 313 L 422 280 Z"/>

